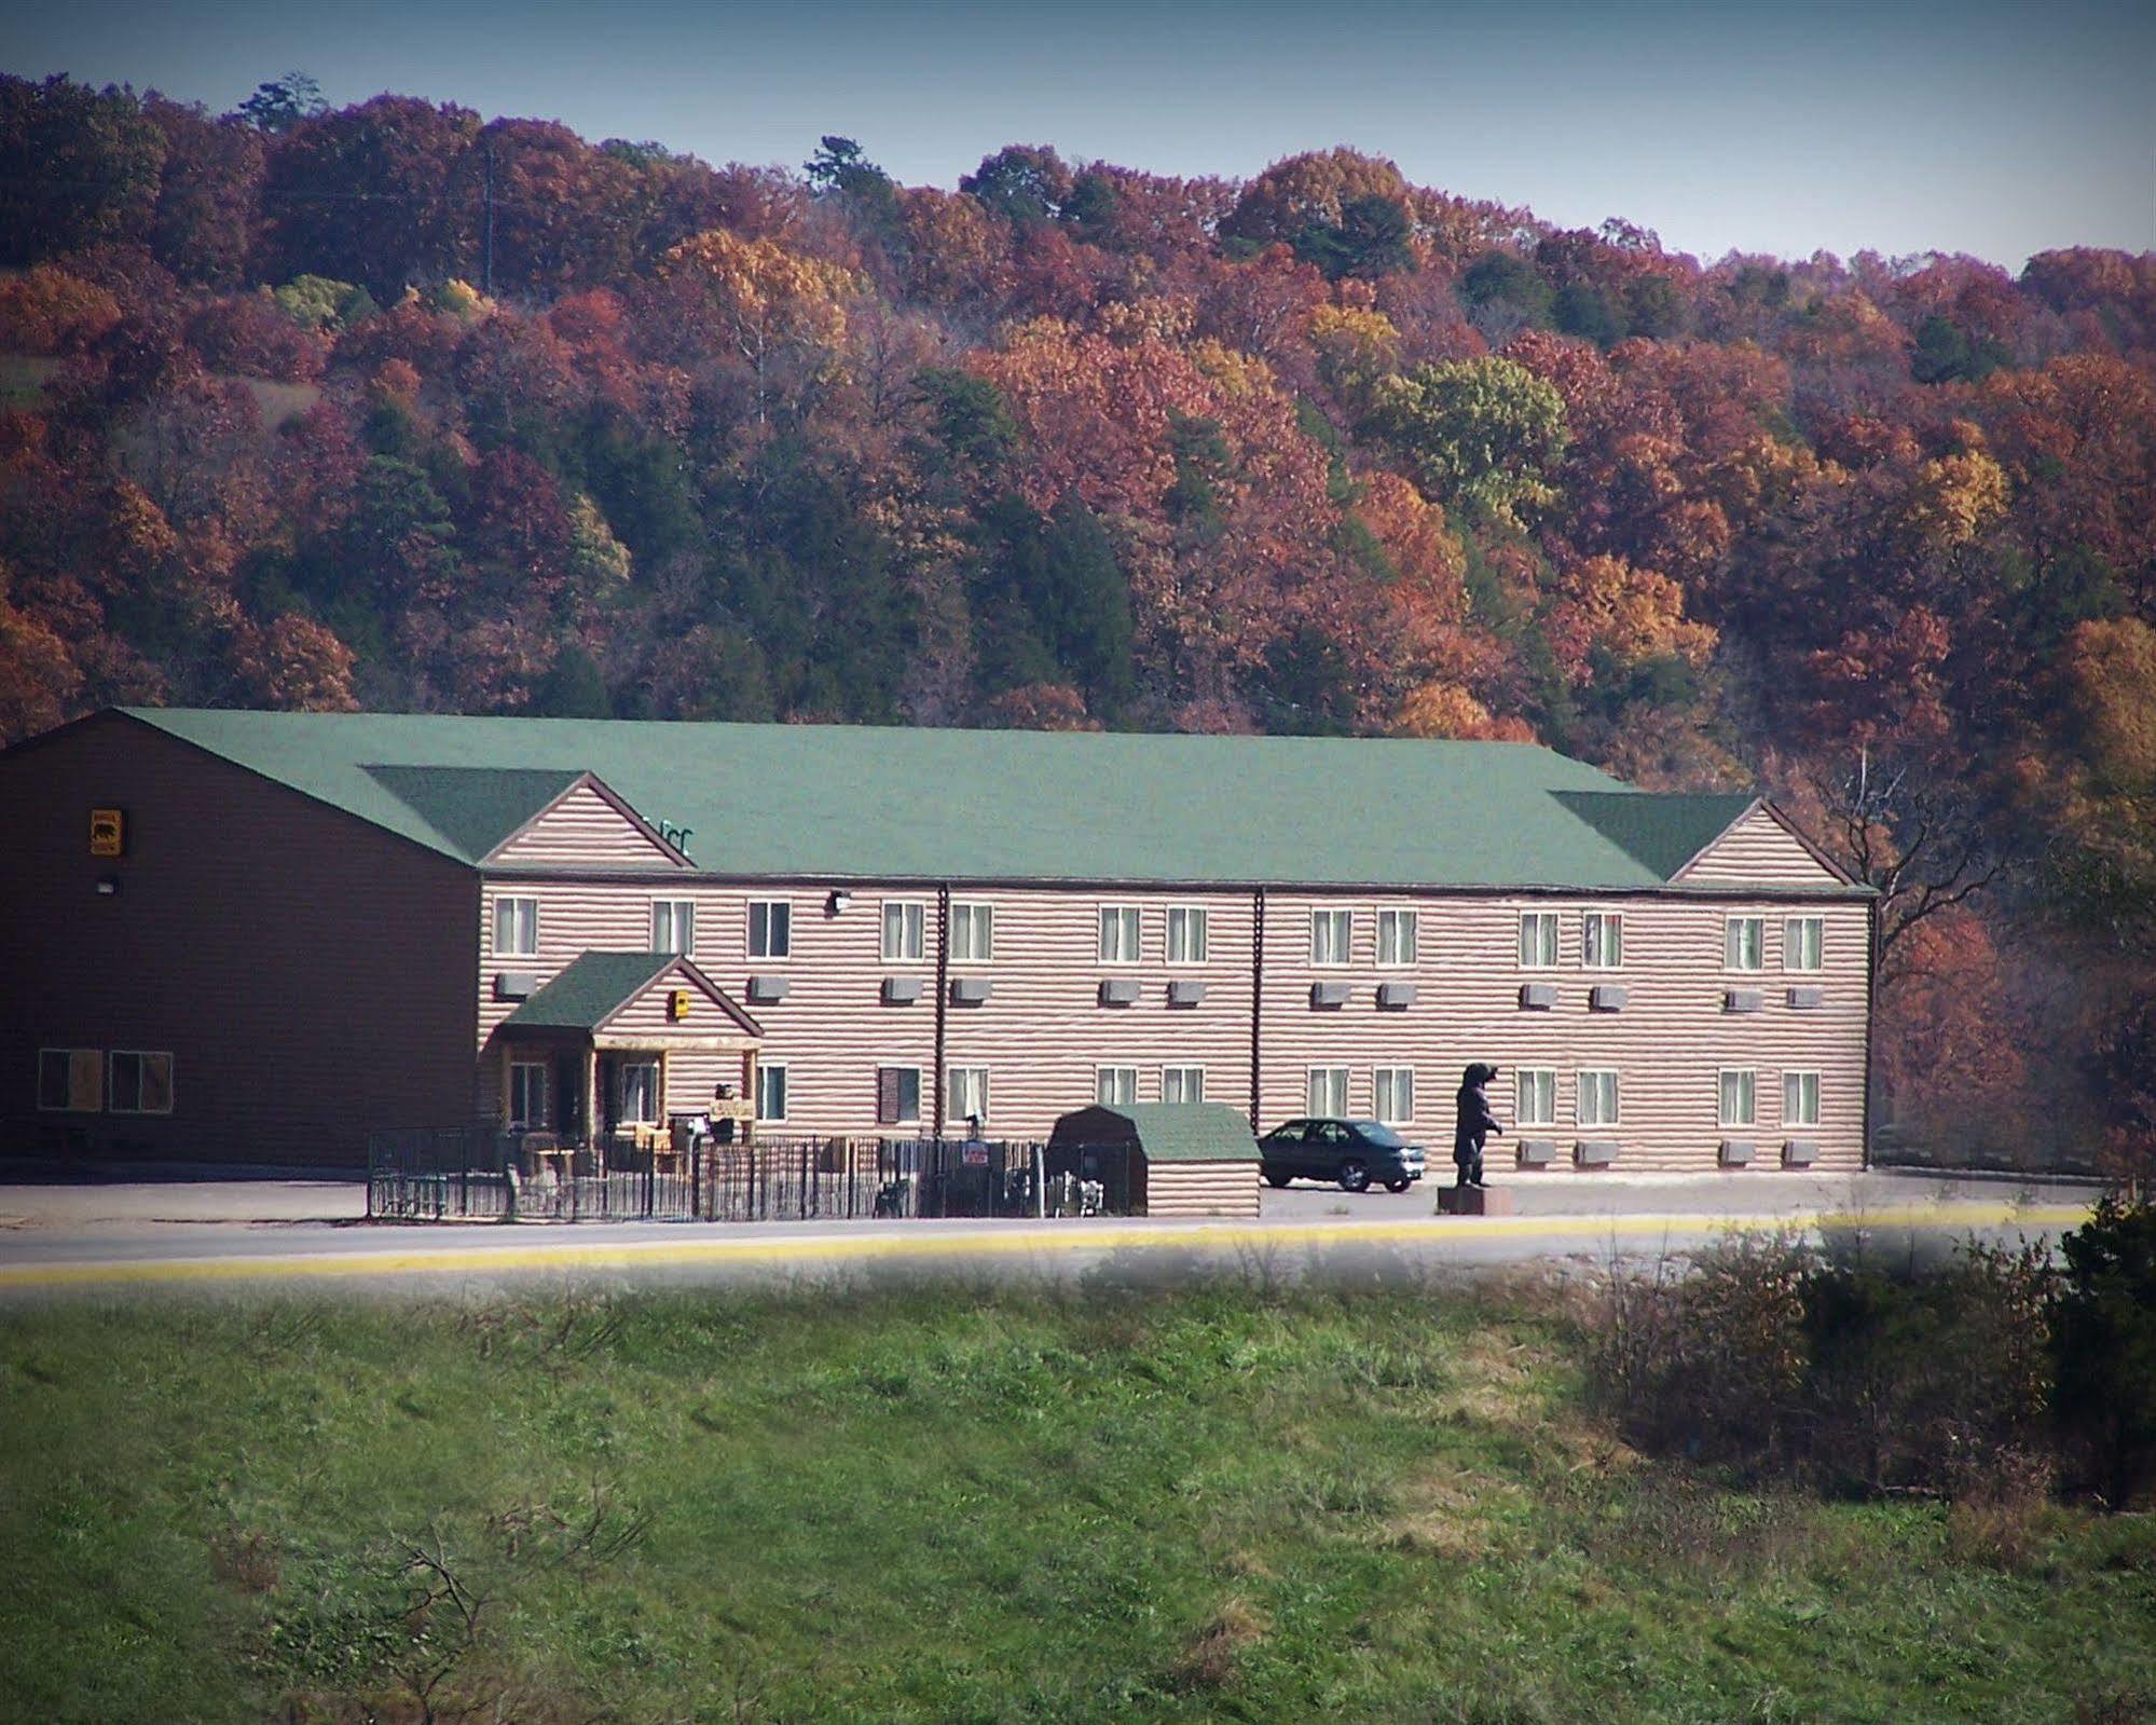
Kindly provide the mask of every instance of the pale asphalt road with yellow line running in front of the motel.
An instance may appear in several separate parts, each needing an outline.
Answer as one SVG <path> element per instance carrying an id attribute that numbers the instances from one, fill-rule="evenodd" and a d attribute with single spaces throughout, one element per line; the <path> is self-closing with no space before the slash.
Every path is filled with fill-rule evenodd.
<path id="1" fill-rule="evenodd" d="M 1863 1175 L 1520 1179 L 1518 1214 L 1432 1216 L 1434 1192 L 1266 1192 L 1257 1223 L 578 1223 L 373 1225 L 334 1182 L 0 1186 L 0 1296 L 147 1287 L 485 1289 L 533 1281 L 849 1285 L 1194 1274 L 1416 1279 L 1697 1251 L 1731 1229 L 1802 1227 L 1835 1248 L 1932 1255 L 1966 1238 L 2050 1240 L 2085 1186 Z"/>

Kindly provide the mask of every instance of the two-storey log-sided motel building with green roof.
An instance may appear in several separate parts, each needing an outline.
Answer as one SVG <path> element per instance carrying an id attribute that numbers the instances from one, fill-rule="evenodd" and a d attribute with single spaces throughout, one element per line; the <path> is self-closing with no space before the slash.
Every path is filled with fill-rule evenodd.
<path id="1" fill-rule="evenodd" d="M 108 709 L 0 755 L 0 1151 L 364 1162 L 735 1087 L 761 1136 L 1373 1117 L 1856 1169 L 1874 899 L 1522 744 Z"/>

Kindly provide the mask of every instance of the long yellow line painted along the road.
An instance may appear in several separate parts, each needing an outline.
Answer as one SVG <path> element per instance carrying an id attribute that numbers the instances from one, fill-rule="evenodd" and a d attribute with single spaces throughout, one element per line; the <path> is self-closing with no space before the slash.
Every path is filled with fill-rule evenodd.
<path id="1" fill-rule="evenodd" d="M 880 1259 L 1020 1257 L 1110 1251 L 1317 1251 L 1330 1246 L 1475 1244 L 1514 1238 L 1615 1240 L 1639 1236 L 1727 1233 L 1746 1229 L 1902 1229 L 1953 1231 L 2072 1227 L 2085 1205 L 1953 1203 L 1887 1205 L 1880 1210 L 1813 1216 L 1490 1216 L 1416 1218 L 1391 1223 L 1188 1223 L 1145 1227 L 1130 1223 L 1063 1225 L 1054 1229 L 983 1229 L 979 1233 L 796 1233 L 692 1240 L 619 1240 L 612 1244 L 545 1242 L 524 1246 L 425 1246 L 379 1253 L 263 1253 L 229 1257 L 106 1259 L 86 1264 L 0 1266 L 0 1292 L 86 1287 L 99 1283 L 196 1283 L 272 1279 L 358 1279 L 412 1274 L 515 1274 L 526 1270 L 673 1270 L 800 1268 L 871 1264 Z"/>

